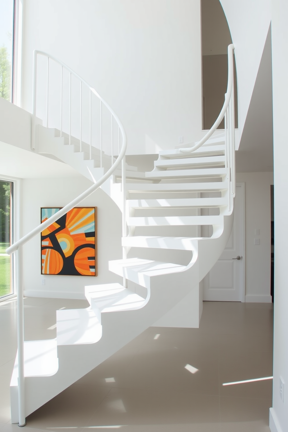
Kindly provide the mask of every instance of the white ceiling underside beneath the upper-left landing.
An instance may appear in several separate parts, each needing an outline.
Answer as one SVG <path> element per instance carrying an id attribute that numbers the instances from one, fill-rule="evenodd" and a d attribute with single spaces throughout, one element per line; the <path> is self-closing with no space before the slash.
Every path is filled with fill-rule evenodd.
<path id="1" fill-rule="evenodd" d="M 61 178 L 81 176 L 63 162 L 0 141 L 0 173 L 16 178 Z"/>

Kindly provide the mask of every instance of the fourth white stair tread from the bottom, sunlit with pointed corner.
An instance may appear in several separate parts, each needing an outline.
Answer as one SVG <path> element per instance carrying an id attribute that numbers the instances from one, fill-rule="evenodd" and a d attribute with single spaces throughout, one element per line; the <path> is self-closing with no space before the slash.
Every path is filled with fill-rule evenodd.
<path id="1" fill-rule="evenodd" d="M 150 277 L 177 273 L 185 269 L 186 266 L 180 264 L 163 263 L 142 258 L 109 261 L 110 271 L 146 288 L 149 288 Z"/>

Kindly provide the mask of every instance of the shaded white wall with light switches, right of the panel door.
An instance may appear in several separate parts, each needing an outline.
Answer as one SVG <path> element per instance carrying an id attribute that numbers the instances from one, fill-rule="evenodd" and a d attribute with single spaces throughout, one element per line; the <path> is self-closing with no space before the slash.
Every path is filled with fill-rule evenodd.
<path id="1" fill-rule="evenodd" d="M 272 172 L 237 173 L 245 182 L 245 301 L 271 302 L 271 201 Z M 260 235 L 255 235 L 260 229 Z M 254 245 L 260 238 L 260 245 Z"/>

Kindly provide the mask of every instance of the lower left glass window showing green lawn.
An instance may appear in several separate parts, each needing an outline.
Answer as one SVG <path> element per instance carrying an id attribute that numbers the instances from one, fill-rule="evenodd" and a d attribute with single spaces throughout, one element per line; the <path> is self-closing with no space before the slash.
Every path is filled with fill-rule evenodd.
<path id="1" fill-rule="evenodd" d="M 13 260 L 6 249 L 13 241 L 13 182 L 0 180 L 0 298 L 13 294 Z"/>

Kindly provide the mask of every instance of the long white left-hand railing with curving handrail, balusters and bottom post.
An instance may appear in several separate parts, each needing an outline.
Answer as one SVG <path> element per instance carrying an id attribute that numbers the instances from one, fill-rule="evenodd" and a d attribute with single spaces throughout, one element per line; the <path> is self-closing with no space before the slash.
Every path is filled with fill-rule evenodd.
<path id="1" fill-rule="evenodd" d="M 35 149 L 35 128 L 36 128 L 36 91 L 37 91 L 37 56 L 42 55 L 44 57 L 47 57 L 47 88 L 46 88 L 46 94 L 47 94 L 47 105 L 46 105 L 46 126 L 48 126 L 49 121 L 49 59 L 53 60 L 61 67 L 61 94 L 60 94 L 60 135 L 62 136 L 63 130 L 62 130 L 62 118 L 63 118 L 63 68 L 65 68 L 69 74 L 70 74 L 70 102 L 69 102 L 69 143 L 71 143 L 71 100 L 72 100 L 72 92 L 71 92 L 71 77 L 72 75 L 79 79 L 80 83 L 80 105 L 79 105 L 79 111 L 80 111 L 80 151 L 82 150 L 82 86 L 86 86 L 89 89 L 89 105 L 90 105 L 90 122 L 89 122 L 89 130 L 90 130 L 90 140 L 89 140 L 89 147 L 90 147 L 90 159 L 92 158 L 92 139 L 91 139 L 91 129 L 92 129 L 92 114 L 91 114 L 91 98 L 92 95 L 95 95 L 99 101 L 100 101 L 100 157 L 101 157 L 101 167 L 102 167 L 102 105 L 105 105 L 105 107 L 108 109 L 108 111 L 111 113 L 111 168 L 108 169 L 108 171 L 102 176 L 102 178 L 98 181 L 96 181 L 89 189 L 87 189 L 85 192 L 83 192 L 81 195 L 76 197 L 73 201 L 68 203 L 66 206 L 64 206 L 61 210 L 59 210 L 57 213 L 55 213 L 53 216 L 51 216 L 49 219 L 47 219 L 45 222 L 38 225 L 35 229 L 33 229 L 28 234 L 24 235 L 20 240 L 16 241 L 11 245 L 7 250 L 7 254 L 15 254 L 15 261 L 16 261 L 16 286 L 17 286 L 17 336 L 18 336 L 18 401 L 19 401 L 19 426 L 25 426 L 25 379 L 24 379 L 24 302 L 23 302 L 23 279 L 22 279 L 22 246 L 27 243 L 29 240 L 34 238 L 36 235 L 40 234 L 45 228 L 51 225 L 51 223 L 55 222 L 57 219 L 59 219 L 61 216 L 66 214 L 68 211 L 73 209 L 73 207 L 77 206 L 79 203 L 82 202 L 85 198 L 89 197 L 98 187 L 101 186 L 101 184 L 104 183 L 116 170 L 116 168 L 120 165 L 120 162 L 122 162 L 122 194 L 123 194 L 123 216 L 122 216 L 122 236 L 127 236 L 127 225 L 126 225 L 126 162 L 125 162 L 125 152 L 127 149 L 127 136 L 126 132 L 124 130 L 124 127 L 118 118 L 118 116 L 115 114 L 115 112 L 112 110 L 112 108 L 104 101 L 103 98 L 96 92 L 95 89 L 93 89 L 91 86 L 89 86 L 88 83 L 86 83 L 79 75 L 73 72 L 69 67 L 67 67 L 65 64 L 60 62 L 59 60 L 55 59 L 54 57 L 49 56 L 48 54 L 42 52 L 42 51 L 34 51 L 34 73 L 33 73 L 33 113 L 32 113 L 32 148 Z M 118 150 L 119 155 L 117 159 L 114 161 L 113 158 L 113 123 L 116 122 L 118 125 Z M 122 136 L 122 140 L 120 140 L 120 137 Z M 120 145 L 120 141 L 122 141 L 122 146 Z M 123 247 L 123 258 L 126 258 L 126 248 Z M 127 280 L 123 279 L 123 286 L 127 287 Z"/>

